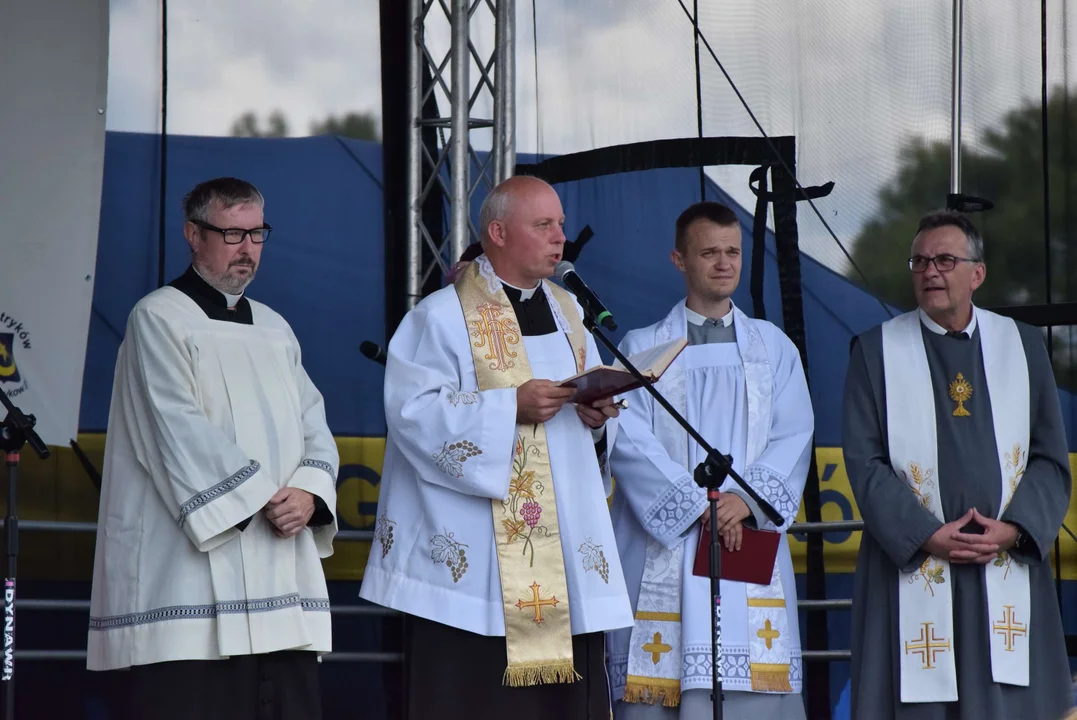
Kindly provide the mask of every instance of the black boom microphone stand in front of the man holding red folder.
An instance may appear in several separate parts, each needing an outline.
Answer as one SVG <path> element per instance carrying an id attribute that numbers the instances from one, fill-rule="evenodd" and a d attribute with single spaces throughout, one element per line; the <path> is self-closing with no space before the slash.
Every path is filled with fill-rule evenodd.
<path id="1" fill-rule="evenodd" d="M 688 421 L 676 411 L 676 408 L 670 405 L 669 401 L 662 397 L 662 394 L 655 390 L 652 381 L 646 376 L 641 373 L 639 369 L 637 369 L 635 366 L 633 366 L 632 363 L 625 357 L 619 350 L 617 350 L 617 347 L 614 345 L 610 338 L 603 335 L 602 330 L 599 329 L 595 322 L 595 317 L 586 309 L 586 306 L 584 310 L 584 325 L 596 338 L 599 339 L 600 342 L 602 342 L 603 345 L 606 347 L 606 349 L 610 350 L 610 352 L 613 353 L 614 357 L 620 362 L 625 369 L 631 372 L 637 380 L 643 383 L 643 387 L 645 387 L 646 391 L 658 401 L 658 404 L 662 406 L 666 412 L 670 413 L 673 420 L 675 420 L 677 424 L 688 433 L 688 436 L 698 442 L 699 447 L 707 452 L 707 457 L 703 462 L 696 466 L 693 478 L 695 479 L 697 485 L 707 490 L 707 498 L 711 503 L 711 563 L 709 575 L 711 579 L 711 597 L 713 599 L 711 603 L 711 627 L 713 629 L 714 634 L 714 643 L 711 648 L 711 680 L 714 683 L 714 689 L 711 692 L 711 704 L 714 708 L 714 720 L 722 720 L 722 546 L 718 542 L 718 534 L 714 530 L 714 519 L 718 513 L 718 486 L 722 485 L 726 477 L 730 477 L 745 493 L 747 493 L 749 497 L 755 500 L 755 503 L 759 506 L 759 509 L 763 510 L 763 513 L 767 516 L 772 523 L 775 525 L 782 525 L 785 520 L 778 512 L 778 510 L 770 505 L 770 503 L 763 499 L 763 497 L 760 497 L 759 494 L 755 492 L 751 485 L 744 482 L 744 479 L 741 478 L 736 470 L 733 470 L 732 456 L 723 455 L 717 450 L 712 448 L 710 443 L 708 443 L 707 440 L 704 440 L 702 436 L 696 432 L 696 428 L 688 424 Z"/>

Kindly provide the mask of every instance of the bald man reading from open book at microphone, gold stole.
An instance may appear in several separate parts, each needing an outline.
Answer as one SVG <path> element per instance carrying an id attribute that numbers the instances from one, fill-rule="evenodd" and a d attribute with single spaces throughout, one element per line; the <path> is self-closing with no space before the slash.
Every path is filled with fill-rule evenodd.
<path id="1" fill-rule="evenodd" d="M 401 323 L 386 364 L 376 545 L 361 596 L 407 616 L 407 717 L 609 720 L 604 632 L 632 611 L 606 506 L 611 399 L 557 382 L 601 365 L 549 282 L 554 188 L 495 187 L 484 254 Z"/>

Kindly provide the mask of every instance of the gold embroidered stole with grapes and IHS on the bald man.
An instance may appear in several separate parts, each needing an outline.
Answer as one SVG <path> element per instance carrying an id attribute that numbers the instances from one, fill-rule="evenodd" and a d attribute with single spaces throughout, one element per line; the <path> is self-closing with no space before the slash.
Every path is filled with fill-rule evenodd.
<path id="1" fill-rule="evenodd" d="M 543 284 L 568 321 L 572 356 L 577 371 L 583 371 L 587 331 L 575 303 L 565 291 Z M 471 336 L 478 390 L 518 387 L 531 380 L 516 312 L 489 260 L 472 263 L 457 279 L 456 288 Z M 540 292 L 545 291 L 540 287 Z M 557 314 L 556 308 L 550 310 Z M 545 425 L 518 425 L 508 497 L 492 503 L 508 654 L 504 682 L 512 687 L 579 678 L 573 666 L 555 484 Z"/>

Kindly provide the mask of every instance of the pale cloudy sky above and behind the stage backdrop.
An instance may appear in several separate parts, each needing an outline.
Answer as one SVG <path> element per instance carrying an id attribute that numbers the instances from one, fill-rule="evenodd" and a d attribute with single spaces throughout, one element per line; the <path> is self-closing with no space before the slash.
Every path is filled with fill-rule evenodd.
<path id="1" fill-rule="evenodd" d="M 401 0 L 403 1 L 403 0 Z M 679 0 L 519 0 L 516 113 L 519 152 L 568 153 L 697 133 L 690 19 Z M 684 0 L 689 12 L 693 0 Z M 912 138 L 948 142 L 951 0 L 699 0 L 700 31 L 764 129 L 795 135 L 805 185 L 834 181 L 816 201 L 849 248 L 878 212 L 879 189 Z M 963 142 L 1040 91 L 1039 3 L 965 3 Z M 256 9 L 255 9 L 256 8 Z M 1062 47 L 1062 0 L 1049 3 L 1050 47 Z M 1077 12 L 1066 17 L 1072 40 Z M 378 0 L 228 0 L 171 3 L 168 131 L 228 135 L 254 111 L 281 111 L 292 135 L 330 114 L 380 115 Z M 110 130 L 158 131 L 160 16 L 155 0 L 112 0 Z M 426 24 L 439 60 L 448 23 L 435 3 Z M 485 3 L 472 40 L 493 48 Z M 537 40 L 537 50 L 535 39 Z M 717 63 L 701 48 L 703 130 L 758 137 Z M 537 66 L 537 91 L 536 91 Z M 1049 55 L 1051 82 L 1063 58 Z M 1071 71 L 1074 70 L 1069 58 Z M 473 66 L 474 68 L 474 66 Z M 1071 72 L 1073 74 L 1073 72 Z M 405 69 L 400 69 L 405 82 Z M 477 73 L 472 72 L 473 81 Z M 444 112 L 447 98 L 439 95 Z M 482 95 L 474 114 L 491 116 Z M 473 133 L 489 145 L 489 132 Z M 746 207 L 751 168 L 709 174 Z M 945 198 L 940 198 L 940 204 Z M 925 209 L 926 210 L 926 209 Z M 836 269 L 840 249 L 800 203 L 801 248 Z"/>

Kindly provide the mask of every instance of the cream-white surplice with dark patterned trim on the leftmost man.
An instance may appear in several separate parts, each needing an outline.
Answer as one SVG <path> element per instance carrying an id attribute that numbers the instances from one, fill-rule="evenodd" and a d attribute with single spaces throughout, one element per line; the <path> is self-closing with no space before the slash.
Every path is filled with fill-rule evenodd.
<path id="1" fill-rule="evenodd" d="M 173 287 L 135 306 L 116 361 L 87 667 L 332 649 L 320 557 L 336 534 L 336 443 L 288 323 L 212 321 Z M 279 538 L 281 488 L 328 525 Z M 240 532 L 235 526 L 247 519 Z"/>

